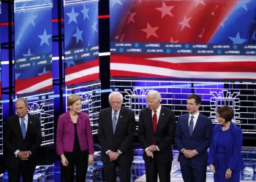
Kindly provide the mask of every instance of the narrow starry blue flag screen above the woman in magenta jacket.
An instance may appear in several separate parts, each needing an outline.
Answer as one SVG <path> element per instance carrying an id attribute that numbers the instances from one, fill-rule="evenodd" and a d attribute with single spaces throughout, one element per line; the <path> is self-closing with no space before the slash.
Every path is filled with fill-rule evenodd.
<path id="1" fill-rule="evenodd" d="M 99 79 L 97 0 L 64 1 L 66 86 Z"/>

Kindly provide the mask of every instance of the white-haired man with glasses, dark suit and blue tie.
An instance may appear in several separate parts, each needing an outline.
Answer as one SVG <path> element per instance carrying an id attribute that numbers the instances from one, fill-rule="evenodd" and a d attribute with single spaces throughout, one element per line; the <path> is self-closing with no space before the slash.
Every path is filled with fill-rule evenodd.
<path id="1" fill-rule="evenodd" d="M 121 93 L 111 92 L 108 100 L 111 107 L 99 111 L 98 130 L 105 181 L 116 181 L 118 167 L 120 181 L 129 182 L 133 160 L 135 114 L 129 108 L 121 106 Z"/>

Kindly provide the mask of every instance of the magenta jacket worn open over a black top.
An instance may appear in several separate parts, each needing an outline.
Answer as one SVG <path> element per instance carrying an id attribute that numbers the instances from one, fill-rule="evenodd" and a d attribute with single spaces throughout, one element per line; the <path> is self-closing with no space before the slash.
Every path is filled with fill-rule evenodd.
<path id="1" fill-rule="evenodd" d="M 78 141 L 81 151 L 88 150 L 89 154 L 94 154 L 94 138 L 91 133 L 89 116 L 86 113 L 78 114 L 77 122 Z M 75 127 L 69 111 L 61 114 L 58 119 L 56 134 L 57 154 L 64 154 L 64 151 L 72 152 L 75 141 Z"/>

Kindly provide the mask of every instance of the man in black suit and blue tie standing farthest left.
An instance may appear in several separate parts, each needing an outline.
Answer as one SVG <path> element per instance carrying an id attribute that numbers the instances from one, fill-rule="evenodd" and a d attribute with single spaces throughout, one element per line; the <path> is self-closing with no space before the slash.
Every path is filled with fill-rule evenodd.
<path id="1" fill-rule="evenodd" d="M 9 181 L 33 181 L 37 151 L 42 142 L 41 124 L 36 116 L 28 114 L 28 102 L 18 98 L 16 113 L 7 119 L 4 128 L 4 144 L 7 153 Z"/>

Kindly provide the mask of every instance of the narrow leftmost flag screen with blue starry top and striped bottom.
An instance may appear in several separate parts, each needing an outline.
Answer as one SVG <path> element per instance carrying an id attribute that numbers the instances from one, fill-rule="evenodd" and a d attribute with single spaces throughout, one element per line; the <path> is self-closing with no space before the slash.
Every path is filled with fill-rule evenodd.
<path id="1" fill-rule="evenodd" d="M 50 90 L 51 0 L 15 0 L 15 94 Z"/>

